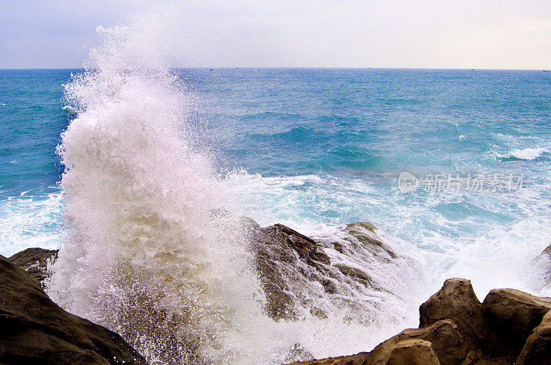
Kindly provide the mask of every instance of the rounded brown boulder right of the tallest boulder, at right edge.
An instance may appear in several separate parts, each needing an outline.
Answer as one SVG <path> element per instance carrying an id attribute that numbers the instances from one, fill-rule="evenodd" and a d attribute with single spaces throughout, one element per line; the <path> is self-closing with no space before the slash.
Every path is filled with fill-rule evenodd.
<path id="1" fill-rule="evenodd" d="M 516 357 L 526 338 L 551 310 L 551 298 L 531 296 L 515 289 L 493 289 L 482 303 L 501 347 Z"/>

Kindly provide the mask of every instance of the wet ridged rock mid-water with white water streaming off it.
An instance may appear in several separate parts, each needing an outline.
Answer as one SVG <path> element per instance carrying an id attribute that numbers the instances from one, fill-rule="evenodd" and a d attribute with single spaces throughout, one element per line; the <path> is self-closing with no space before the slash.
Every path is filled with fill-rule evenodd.
<path id="1" fill-rule="evenodd" d="M 382 306 L 375 300 L 355 300 L 358 293 L 387 290 L 383 283 L 388 287 L 388 278 L 373 277 L 374 270 L 409 265 L 408 258 L 393 252 L 367 222 L 316 239 L 282 224 L 261 228 L 252 219 L 241 219 L 240 224 L 267 296 L 266 311 L 274 320 L 327 318 L 331 309 L 320 302 L 344 309 L 353 320 L 362 305 Z M 394 261 L 397 257 L 401 260 Z"/>

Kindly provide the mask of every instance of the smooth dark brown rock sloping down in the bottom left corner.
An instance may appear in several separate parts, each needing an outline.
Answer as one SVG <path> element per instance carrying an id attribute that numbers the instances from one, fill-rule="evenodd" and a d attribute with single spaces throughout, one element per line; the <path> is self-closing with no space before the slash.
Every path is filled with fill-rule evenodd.
<path id="1" fill-rule="evenodd" d="M 121 336 L 58 307 L 36 280 L 3 256 L 0 363 L 146 364 Z"/>

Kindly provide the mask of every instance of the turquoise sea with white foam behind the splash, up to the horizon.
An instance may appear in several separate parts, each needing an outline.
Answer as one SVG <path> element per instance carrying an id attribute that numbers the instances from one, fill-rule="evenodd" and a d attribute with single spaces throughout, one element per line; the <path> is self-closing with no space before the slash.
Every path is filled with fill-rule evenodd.
<path id="1" fill-rule="evenodd" d="M 63 236 L 55 148 L 71 118 L 62 101 L 70 73 L 0 71 L 0 254 L 57 247 Z M 188 122 L 220 179 L 238 192 L 233 210 L 307 234 L 371 221 L 425 263 L 428 290 L 449 276 L 467 276 L 479 291 L 547 290 L 530 267 L 551 243 L 551 74 L 183 69 L 180 76 L 193 100 Z M 503 184 L 400 192 L 403 171 L 463 182 L 498 174 Z M 523 189 L 503 188 L 511 178 Z"/>

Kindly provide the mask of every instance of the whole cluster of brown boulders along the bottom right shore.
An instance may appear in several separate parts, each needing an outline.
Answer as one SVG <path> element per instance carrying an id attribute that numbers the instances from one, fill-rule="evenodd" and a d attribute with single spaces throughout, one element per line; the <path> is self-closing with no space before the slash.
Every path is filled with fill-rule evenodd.
<path id="1" fill-rule="evenodd" d="M 295 365 L 551 364 L 551 298 L 493 289 L 479 302 L 470 280 L 451 278 L 406 329 L 368 353 Z"/>

